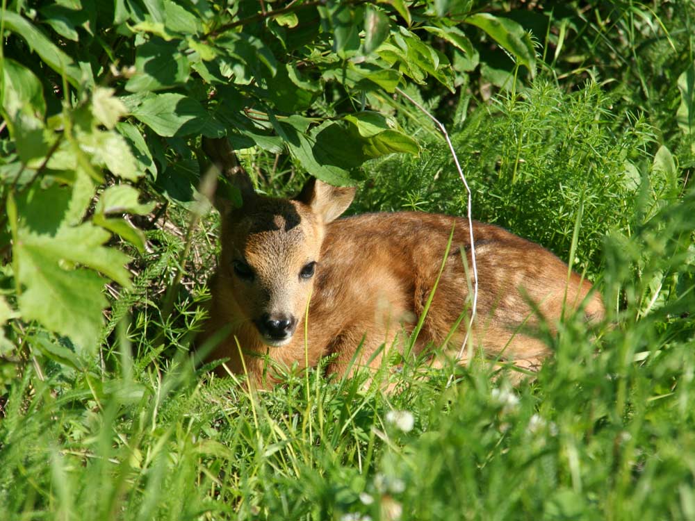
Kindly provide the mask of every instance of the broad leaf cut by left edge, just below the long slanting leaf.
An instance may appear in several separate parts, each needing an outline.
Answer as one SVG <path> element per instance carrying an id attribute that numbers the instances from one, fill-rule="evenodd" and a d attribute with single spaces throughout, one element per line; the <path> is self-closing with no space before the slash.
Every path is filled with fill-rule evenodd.
<path id="1" fill-rule="evenodd" d="M 44 117 L 46 101 L 39 78 L 30 69 L 20 65 L 15 60 L 3 60 L 3 91 L 2 107 L 10 119 L 20 111 Z"/>

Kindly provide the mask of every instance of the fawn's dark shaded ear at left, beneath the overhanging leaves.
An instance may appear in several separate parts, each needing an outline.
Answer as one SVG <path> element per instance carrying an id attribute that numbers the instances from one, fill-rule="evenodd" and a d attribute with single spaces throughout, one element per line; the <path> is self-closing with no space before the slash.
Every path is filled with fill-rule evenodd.
<path id="1" fill-rule="evenodd" d="M 215 190 L 213 204 L 220 213 L 228 213 L 236 199 L 229 193 L 230 188 L 236 188 L 241 194 L 241 204 L 247 204 L 256 197 L 256 191 L 249 174 L 239 164 L 234 150 L 227 138 L 206 138 L 203 136 L 202 147 L 213 165 L 222 173 L 225 182 L 220 182 Z M 227 193 L 225 193 L 227 192 Z M 234 206 L 240 206 L 236 204 Z"/>

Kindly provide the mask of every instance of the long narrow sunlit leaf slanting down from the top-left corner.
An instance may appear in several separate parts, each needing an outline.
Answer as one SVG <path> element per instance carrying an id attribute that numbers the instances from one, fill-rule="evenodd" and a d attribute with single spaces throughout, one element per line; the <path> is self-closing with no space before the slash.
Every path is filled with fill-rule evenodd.
<path id="1" fill-rule="evenodd" d="M 54 69 L 58 74 L 65 74 L 72 85 L 79 85 L 82 74 L 70 56 L 58 49 L 44 33 L 35 28 L 24 17 L 6 9 L 1 10 L 0 15 L 0 22 L 6 31 L 20 35 L 51 69 Z"/>

